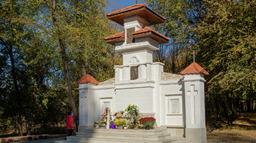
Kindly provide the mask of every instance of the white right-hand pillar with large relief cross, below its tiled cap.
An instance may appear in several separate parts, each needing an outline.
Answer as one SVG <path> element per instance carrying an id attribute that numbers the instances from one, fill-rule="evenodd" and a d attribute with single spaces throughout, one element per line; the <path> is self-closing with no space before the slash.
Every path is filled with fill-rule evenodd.
<path id="1" fill-rule="evenodd" d="M 184 75 L 186 143 L 207 143 L 204 105 L 204 75 Z"/>

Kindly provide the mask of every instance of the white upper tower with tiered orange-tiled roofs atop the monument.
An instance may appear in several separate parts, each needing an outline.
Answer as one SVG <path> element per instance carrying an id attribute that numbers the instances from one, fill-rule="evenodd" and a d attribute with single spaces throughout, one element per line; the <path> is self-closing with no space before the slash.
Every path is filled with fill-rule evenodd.
<path id="1" fill-rule="evenodd" d="M 105 42 L 115 45 L 115 50 L 123 55 L 123 65 L 114 67 L 116 84 L 153 80 L 152 53 L 159 50 L 159 44 L 167 43 L 170 39 L 148 26 L 163 23 L 166 18 L 145 4 L 135 4 L 107 15 L 108 19 L 124 26 L 125 29 L 104 38 Z"/>

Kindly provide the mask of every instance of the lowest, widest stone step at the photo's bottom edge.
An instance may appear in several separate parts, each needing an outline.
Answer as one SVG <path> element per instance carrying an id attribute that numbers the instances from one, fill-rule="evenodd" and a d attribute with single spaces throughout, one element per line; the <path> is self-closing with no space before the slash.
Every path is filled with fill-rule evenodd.
<path id="1" fill-rule="evenodd" d="M 67 137 L 73 138 L 74 136 Z M 185 143 L 184 137 L 171 137 L 169 140 L 120 140 L 120 139 L 105 139 L 105 138 L 83 138 L 82 141 L 68 141 L 68 140 L 58 140 L 55 143 Z"/>

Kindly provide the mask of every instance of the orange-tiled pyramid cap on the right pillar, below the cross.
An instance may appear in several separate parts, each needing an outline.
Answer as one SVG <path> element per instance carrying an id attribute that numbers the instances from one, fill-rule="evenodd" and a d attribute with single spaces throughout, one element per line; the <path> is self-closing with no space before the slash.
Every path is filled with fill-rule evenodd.
<path id="1" fill-rule="evenodd" d="M 180 72 L 180 74 L 185 75 L 189 73 L 204 73 L 205 75 L 209 75 L 209 73 L 203 69 L 198 63 L 193 62 L 188 67 Z"/>

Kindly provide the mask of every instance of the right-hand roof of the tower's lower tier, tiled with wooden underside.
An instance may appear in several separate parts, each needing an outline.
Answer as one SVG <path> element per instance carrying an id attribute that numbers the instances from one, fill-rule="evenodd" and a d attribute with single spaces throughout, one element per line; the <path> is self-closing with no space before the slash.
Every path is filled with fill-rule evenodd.
<path id="1" fill-rule="evenodd" d="M 168 37 L 160 34 L 157 31 L 154 31 L 152 28 L 145 26 L 144 28 L 135 31 L 132 33 L 134 38 L 143 38 L 143 37 L 150 37 L 156 41 L 159 42 L 159 44 L 164 44 L 164 43 L 168 43 L 168 41 L 170 40 Z"/>

